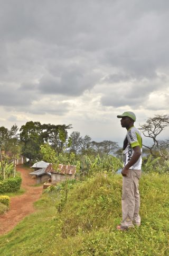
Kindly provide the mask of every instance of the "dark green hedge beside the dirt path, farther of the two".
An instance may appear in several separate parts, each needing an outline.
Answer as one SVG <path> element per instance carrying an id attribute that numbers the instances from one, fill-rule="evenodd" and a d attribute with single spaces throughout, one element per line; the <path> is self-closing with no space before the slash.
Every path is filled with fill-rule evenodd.
<path id="1" fill-rule="evenodd" d="M 0 194 L 7 192 L 16 192 L 17 190 L 20 190 L 21 181 L 22 179 L 20 176 L 0 181 Z"/>

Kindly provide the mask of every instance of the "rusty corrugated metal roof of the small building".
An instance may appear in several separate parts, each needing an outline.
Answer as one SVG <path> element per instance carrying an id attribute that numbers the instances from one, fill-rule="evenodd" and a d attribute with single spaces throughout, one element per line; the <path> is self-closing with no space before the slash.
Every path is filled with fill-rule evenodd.
<path id="1" fill-rule="evenodd" d="M 59 164 L 58 170 L 54 170 L 52 164 L 49 164 L 48 167 L 46 167 L 45 172 L 72 175 L 76 173 L 76 165 Z"/>

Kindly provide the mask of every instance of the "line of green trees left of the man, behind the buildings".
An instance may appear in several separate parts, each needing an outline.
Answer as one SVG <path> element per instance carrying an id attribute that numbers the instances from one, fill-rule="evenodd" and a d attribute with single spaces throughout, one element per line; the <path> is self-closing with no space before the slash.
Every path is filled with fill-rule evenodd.
<path id="1" fill-rule="evenodd" d="M 56 155 L 63 152 L 75 154 L 111 154 L 119 146 L 111 140 L 95 142 L 89 135 L 82 137 L 79 131 L 73 131 L 70 136 L 68 130 L 71 125 L 51 125 L 29 121 L 20 130 L 14 125 L 10 130 L 0 127 L 1 152 L 12 153 L 13 158 L 22 154 L 32 162 L 40 160 L 40 147 L 49 144 Z"/>

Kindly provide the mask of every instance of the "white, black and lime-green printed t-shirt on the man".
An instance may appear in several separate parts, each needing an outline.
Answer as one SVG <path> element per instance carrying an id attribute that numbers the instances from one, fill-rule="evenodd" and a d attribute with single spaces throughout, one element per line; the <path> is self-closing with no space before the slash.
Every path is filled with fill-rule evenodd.
<path id="1" fill-rule="evenodd" d="M 130 127 L 127 131 L 127 135 L 124 139 L 123 145 L 123 163 L 124 166 L 130 161 L 134 154 L 133 148 L 139 146 L 142 152 L 142 137 L 138 129 L 134 126 Z M 141 170 L 142 169 L 142 156 L 139 157 L 137 162 L 129 167 L 129 169 L 133 170 Z"/>

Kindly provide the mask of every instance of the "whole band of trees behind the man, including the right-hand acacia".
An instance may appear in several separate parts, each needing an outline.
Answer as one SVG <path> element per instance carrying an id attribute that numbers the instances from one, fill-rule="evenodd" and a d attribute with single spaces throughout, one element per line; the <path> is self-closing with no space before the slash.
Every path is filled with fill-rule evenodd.
<path id="1" fill-rule="evenodd" d="M 169 139 L 158 140 L 157 136 L 169 126 L 168 115 L 155 115 L 140 125 L 140 131 L 145 137 L 153 140 L 152 145 L 144 145 L 152 156 L 159 155 L 168 160 Z M 55 154 L 74 153 L 77 155 L 104 156 L 105 154 L 121 154 L 121 149 L 116 142 L 103 140 L 95 142 L 89 135 L 82 137 L 79 131 L 73 131 L 69 135 L 72 125 L 41 124 L 40 122 L 26 122 L 20 129 L 13 125 L 11 129 L 0 127 L 0 169 L 5 178 L 5 163 L 13 160 L 14 166 L 18 156 L 29 158 L 30 162 L 42 159 L 41 145 L 50 145 Z M 7 154 L 9 153 L 10 154 Z M 2 161 L 3 160 L 3 161 Z M 8 173 L 10 173 L 10 167 Z M 15 171 L 14 171 L 15 173 Z M 15 174 L 14 174 L 15 175 Z"/>

